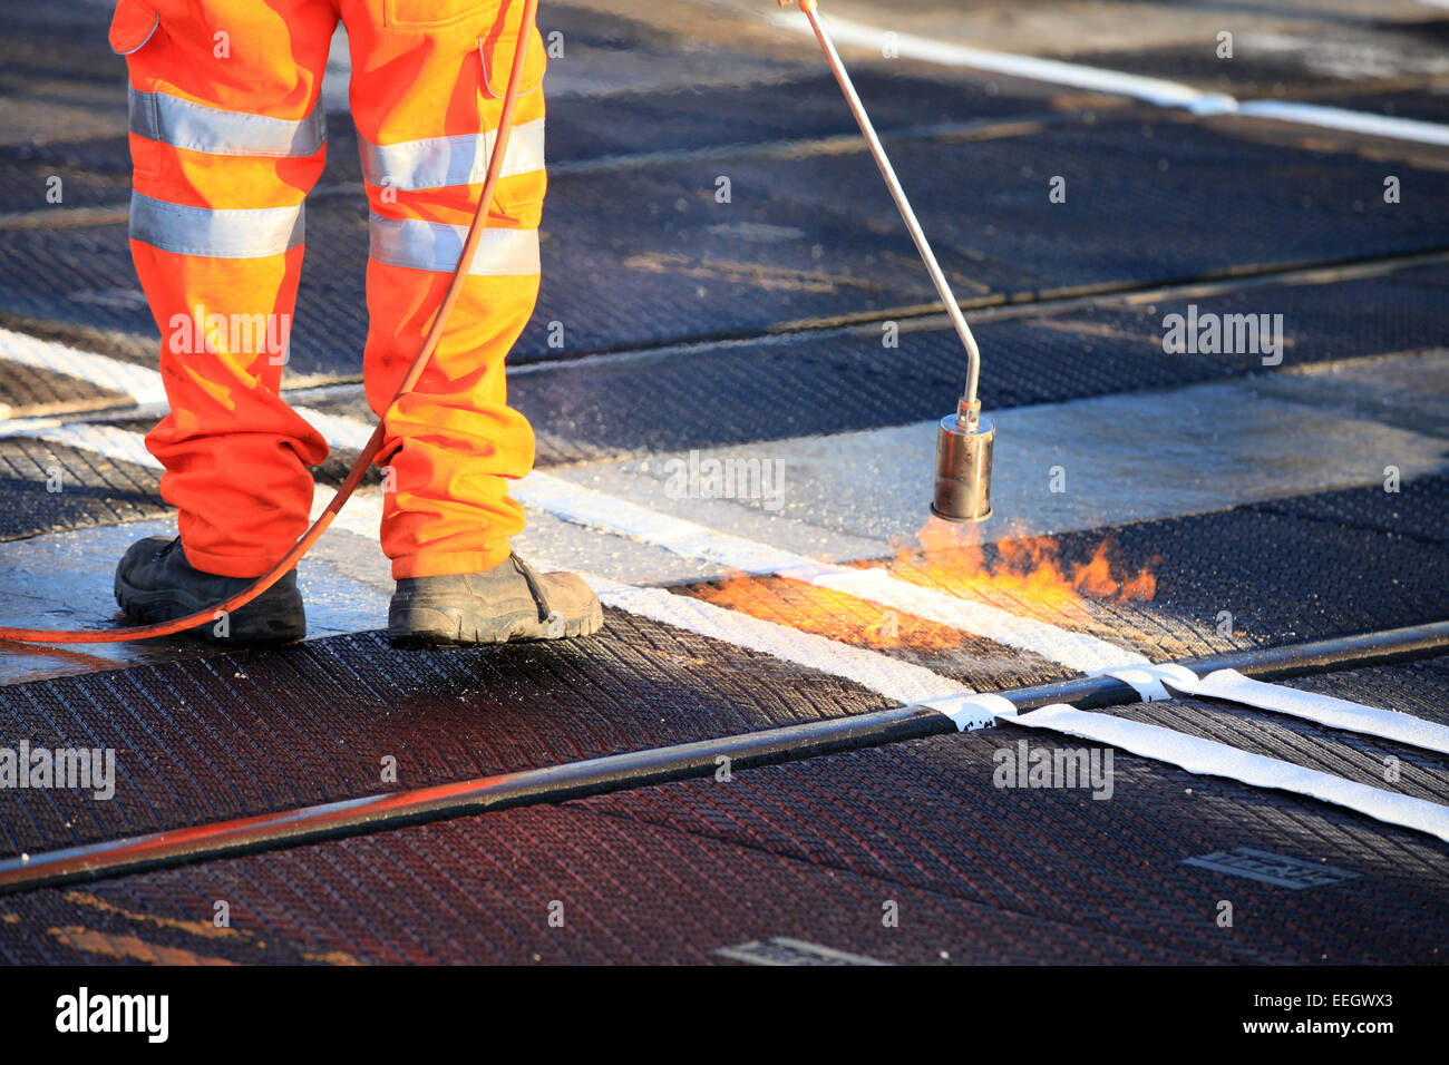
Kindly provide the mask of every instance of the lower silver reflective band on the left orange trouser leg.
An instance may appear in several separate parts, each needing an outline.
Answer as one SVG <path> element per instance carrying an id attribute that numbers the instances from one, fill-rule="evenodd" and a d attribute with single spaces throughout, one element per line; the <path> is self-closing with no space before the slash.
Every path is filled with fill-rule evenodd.
<path id="1" fill-rule="evenodd" d="M 177 255 L 261 259 L 296 248 L 304 238 L 301 204 L 209 210 L 130 194 L 130 239 Z"/>

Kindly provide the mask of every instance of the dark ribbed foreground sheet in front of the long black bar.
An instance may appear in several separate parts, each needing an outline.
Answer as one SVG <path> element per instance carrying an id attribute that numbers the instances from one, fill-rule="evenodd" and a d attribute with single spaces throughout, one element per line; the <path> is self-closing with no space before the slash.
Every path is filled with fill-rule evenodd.
<path id="1" fill-rule="evenodd" d="M 1421 709 L 1442 701 L 1449 668 L 1313 684 Z M 1377 748 L 1406 756 L 1198 703 L 1120 713 L 1365 781 Z M 1004 726 L 32 891 L 0 900 L 0 958 L 669 964 L 790 936 L 914 964 L 1442 964 L 1440 843 L 1120 752 L 1110 798 L 995 787 L 1019 742 L 1075 743 Z M 1424 784 L 1410 761 L 1400 784 L 1374 782 L 1442 800 L 1442 771 Z M 1324 882 L 1184 862 L 1237 848 L 1307 862 Z M 212 926 L 217 900 L 230 930 Z"/>

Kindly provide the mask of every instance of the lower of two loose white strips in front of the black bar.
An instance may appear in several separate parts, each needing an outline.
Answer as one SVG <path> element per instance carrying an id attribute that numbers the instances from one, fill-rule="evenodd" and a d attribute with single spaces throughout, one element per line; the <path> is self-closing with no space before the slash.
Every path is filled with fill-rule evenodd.
<path id="1" fill-rule="evenodd" d="M 1110 743 L 1122 751 L 1168 762 L 1198 775 L 1224 777 L 1256 788 L 1310 795 L 1368 814 L 1385 824 L 1401 824 L 1449 842 L 1449 806 L 1372 788 L 1293 762 L 1239 751 L 1227 743 L 1187 736 L 1156 724 L 1077 710 L 1061 703 L 1019 714 L 1010 722 L 1027 729 L 1048 729 L 1095 743 Z"/>

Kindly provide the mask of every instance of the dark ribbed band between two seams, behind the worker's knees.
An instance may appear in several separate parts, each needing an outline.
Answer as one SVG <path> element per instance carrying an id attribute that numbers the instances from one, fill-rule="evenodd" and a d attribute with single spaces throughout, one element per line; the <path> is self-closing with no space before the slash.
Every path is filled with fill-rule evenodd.
<path id="1" fill-rule="evenodd" d="M 1385 204 L 1381 162 L 1178 120 L 911 141 L 893 158 L 962 298 L 1449 245 L 1436 209 L 1449 174 L 1395 164 L 1417 191 Z M 730 203 L 714 200 L 722 175 Z M 1052 175 L 1066 178 L 1066 203 L 1049 203 Z M 1237 196 L 1222 196 L 1224 180 Z M 564 326 L 562 351 L 582 352 L 932 303 L 893 212 L 864 151 L 561 174 L 545 207 L 543 290 L 519 356 L 559 354 L 548 343 L 552 322 Z M 355 378 L 365 339 L 361 199 L 319 200 L 307 227 L 294 380 Z M 43 287 L 35 262 L 49 264 Z M 0 230 L 0 312 L 155 329 L 135 298 L 123 225 Z"/>

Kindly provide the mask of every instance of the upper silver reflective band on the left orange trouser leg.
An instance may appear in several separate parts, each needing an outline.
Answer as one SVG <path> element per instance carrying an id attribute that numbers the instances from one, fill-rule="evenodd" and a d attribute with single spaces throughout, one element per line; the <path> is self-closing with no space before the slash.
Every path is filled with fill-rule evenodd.
<path id="1" fill-rule="evenodd" d="M 225 112 L 168 93 L 130 90 L 130 132 L 172 148 L 209 155 L 297 158 L 316 155 L 327 141 L 319 103 L 300 122 Z"/>

